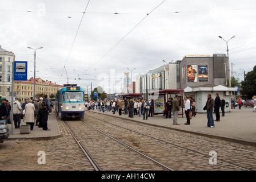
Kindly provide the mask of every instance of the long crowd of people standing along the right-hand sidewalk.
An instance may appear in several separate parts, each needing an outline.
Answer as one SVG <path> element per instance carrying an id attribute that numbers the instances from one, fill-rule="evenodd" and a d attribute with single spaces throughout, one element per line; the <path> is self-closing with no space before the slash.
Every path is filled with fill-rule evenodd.
<path id="1" fill-rule="evenodd" d="M 256 96 L 253 97 L 256 104 Z M 113 114 L 118 111 L 119 115 L 127 114 L 130 118 L 133 118 L 134 115 L 138 115 L 141 117 L 143 115 L 143 120 L 147 119 L 148 117 L 153 117 L 153 111 L 154 111 L 154 104 L 152 100 L 147 100 L 145 98 L 144 100 L 138 99 L 127 99 L 124 98 L 124 100 L 107 100 L 107 101 L 89 101 L 86 102 L 88 109 L 97 109 L 98 111 L 102 111 L 103 113 L 105 111 L 110 112 L 112 111 Z M 239 109 L 241 109 L 241 98 L 238 99 L 238 105 Z M 225 107 L 226 107 L 226 101 L 224 98 L 220 98 L 218 93 L 215 93 L 215 99 L 212 98 L 211 93 L 207 94 L 207 102 L 205 104 L 205 107 L 203 107 L 203 110 L 206 110 L 207 115 L 207 126 L 213 128 L 215 127 L 214 121 L 221 121 L 221 116 L 225 117 Z M 190 125 L 190 121 L 192 117 L 195 117 L 197 115 L 196 111 L 196 103 L 194 98 L 186 96 L 185 97 L 185 115 L 186 115 L 186 123 L 185 125 Z M 165 118 L 173 118 L 173 125 L 180 125 L 177 122 L 178 113 L 179 113 L 180 107 L 178 102 L 178 95 L 175 95 L 175 98 L 168 98 L 167 102 L 165 103 L 165 110 L 163 111 L 163 116 Z M 221 111 L 221 113 L 220 113 Z M 256 112 L 256 105 L 253 109 L 254 112 Z M 215 120 L 213 117 L 213 114 L 215 114 Z M 221 115 L 222 114 L 222 115 Z M 173 115 L 173 117 L 172 117 Z"/>

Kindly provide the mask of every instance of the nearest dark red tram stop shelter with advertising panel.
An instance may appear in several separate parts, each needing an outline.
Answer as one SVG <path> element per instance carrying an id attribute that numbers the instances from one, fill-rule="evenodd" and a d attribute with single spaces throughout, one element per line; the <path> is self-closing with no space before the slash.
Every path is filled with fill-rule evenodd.
<path id="1" fill-rule="evenodd" d="M 168 98 L 175 98 L 175 94 L 178 94 L 179 115 L 182 115 L 183 118 L 183 92 L 182 89 L 164 89 L 149 92 L 150 100 L 154 102 L 154 114 L 163 114 Z"/>

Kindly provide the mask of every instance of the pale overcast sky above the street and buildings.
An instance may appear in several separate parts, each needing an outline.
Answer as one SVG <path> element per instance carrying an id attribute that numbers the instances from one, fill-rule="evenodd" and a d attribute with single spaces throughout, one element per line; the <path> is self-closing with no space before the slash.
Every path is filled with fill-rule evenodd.
<path id="1" fill-rule="evenodd" d="M 242 79 L 243 69 L 256 65 L 255 19 L 255 0 L 0 0 L 0 45 L 16 61 L 28 61 L 28 78 L 34 76 L 34 50 L 27 47 L 43 47 L 36 77 L 66 84 L 68 76 L 70 84 L 87 88 L 93 82 L 94 88 L 101 76 L 113 85 L 127 68 L 136 68 L 134 76 L 162 60 L 226 53 L 218 36 L 236 35 L 229 41 L 230 65 Z"/>

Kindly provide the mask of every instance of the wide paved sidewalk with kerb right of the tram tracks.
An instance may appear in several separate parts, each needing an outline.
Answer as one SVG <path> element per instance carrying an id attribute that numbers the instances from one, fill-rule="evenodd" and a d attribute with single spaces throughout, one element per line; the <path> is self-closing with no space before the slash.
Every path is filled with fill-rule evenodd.
<path id="1" fill-rule="evenodd" d="M 129 118 L 128 115 L 119 115 L 118 112 L 112 114 L 112 112 L 102 113 L 98 110 L 89 111 L 125 118 L 135 122 L 147 123 L 153 126 L 166 127 L 187 133 L 256 146 L 256 113 L 253 113 L 253 107 L 242 107 L 241 110 L 238 108 L 231 109 L 231 112 L 225 113 L 225 117 L 221 117 L 220 122 L 214 121 L 214 128 L 205 127 L 207 125 L 206 113 L 197 113 L 190 120 L 190 125 L 184 125 L 186 123 L 186 117 L 184 115 L 182 118 L 179 115 L 178 123 L 181 125 L 173 125 L 173 118 L 165 119 L 162 114 L 143 120 L 143 115 L 141 117 L 134 115 L 134 118 Z M 215 120 L 215 114 L 213 114 L 213 117 Z"/>

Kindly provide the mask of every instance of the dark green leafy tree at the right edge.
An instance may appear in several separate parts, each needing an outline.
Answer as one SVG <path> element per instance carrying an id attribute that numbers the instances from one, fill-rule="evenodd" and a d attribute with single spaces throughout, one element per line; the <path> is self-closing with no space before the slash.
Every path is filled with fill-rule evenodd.
<path id="1" fill-rule="evenodd" d="M 256 92 L 256 65 L 253 68 L 253 71 L 245 74 L 245 81 L 241 82 L 242 95 L 251 98 L 255 96 Z"/>

